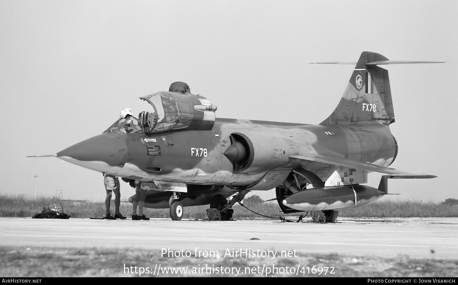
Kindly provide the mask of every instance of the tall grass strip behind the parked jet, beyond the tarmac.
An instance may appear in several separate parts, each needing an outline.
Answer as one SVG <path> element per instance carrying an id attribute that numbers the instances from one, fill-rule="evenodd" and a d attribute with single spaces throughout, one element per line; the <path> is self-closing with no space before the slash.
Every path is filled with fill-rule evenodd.
<path id="1" fill-rule="evenodd" d="M 105 214 L 104 202 L 73 201 L 62 199 L 60 195 L 52 197 L 39 197 L 34 200 L 24 195 L 0 194 L 0 216 L 1 217 L 31 217 L 41 211 L 43 204 L 49 202 L 61 204 L 64 213 L 72 218 L 101 218 Z M 339 210 L 340 217 L 458 217 L 458 204 L 455 199 L 447 199 L 447 203 L 403 201 L 403 202 L 376 202 L 367 206 Z M 262 202 L 259 196 L 253 195 L 243 201 L 246 207 L 267 216 L 297 216 L 301 213 L 284 215 L 280 212 L 277 202 Z M 112 200 L 112 213 L 114 213 L 114 200 Z M 186 207 L 184 219 L 204 219 L 208 205 Z M 249 210 L 235 204 L 234 219 L 262 218 Z M 120 212 L 130 217 L 132 215 L 132 204 L 121 201 Z M 150 218 L 169 218 L 169 209 L 147 209 L 145 214 Z"/>

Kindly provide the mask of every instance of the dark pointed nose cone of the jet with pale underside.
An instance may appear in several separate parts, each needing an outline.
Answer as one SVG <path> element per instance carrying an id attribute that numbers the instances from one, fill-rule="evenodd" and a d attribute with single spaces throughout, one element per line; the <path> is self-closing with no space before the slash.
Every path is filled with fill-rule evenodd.
<path id="1" fill-rule="evenodd" d="M 101 172 L 124 166 L 126 156 L 125 140 L 112 133 L 96 135 L 57 153 L 62 160 Z"/>

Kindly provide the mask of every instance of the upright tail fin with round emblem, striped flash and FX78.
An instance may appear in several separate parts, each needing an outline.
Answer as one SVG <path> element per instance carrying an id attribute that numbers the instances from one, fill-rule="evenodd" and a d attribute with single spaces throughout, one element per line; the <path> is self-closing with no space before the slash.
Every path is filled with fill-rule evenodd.
<path id="1" fill-rule="evenodd" d="M 354 67 L 344 96 L 334 112 L 321 124 L 352 124 L 363 121 L 382 120 L 384 124 L 394 122 L 388 70 L 373 62 L 388 59 L 381 54 L 363 52 Z"/>

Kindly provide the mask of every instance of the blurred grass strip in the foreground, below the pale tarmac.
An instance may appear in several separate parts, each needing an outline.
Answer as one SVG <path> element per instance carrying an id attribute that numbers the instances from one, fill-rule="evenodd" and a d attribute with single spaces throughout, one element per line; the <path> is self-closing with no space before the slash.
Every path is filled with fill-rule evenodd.
<path id="1" fill-rule="evenodd" d="M 8 277 L 458 276 L 457 260 L 412 259 L 407 256 L 381 258 L 339 254 L 300 254 L 294 259 L 278 258 L 273 261 L 270 258 L 195 258 L 192 256 L 189 258 L 161 258 L 159 251 L 142 249 L 0 247 L 0 257 L 0 276 Z M 162 270 L 158 269 L 159 265 Z M 133 272 L 130 271 L 131 266 Z M 260 268 L 256 269 L 256 273 L 253 273 L 251 270 L 258 266 Z M 261 271 L 263 266 L 270 269 L 264 269 L 262 274 L 258 273 L 257 270 Z M 315 268 L 313 268 L 314 266 Z M 149 269 L 146 269 L 147 267 Z M 199 272 L 199 267 L 210 267 L 210 271 Z M 289 269 L 286 269 L 287 267 Z M 181 273 L 172 273 L 170 271 L 172 268 L 173 270 L 181 269 Z M 219 270 L 212 271 L 216 268 Z M 226 273 L 219 273 L 221 268 Z M 291 273 L 292 268 L 294 268 L 294 274 Z M 154 269 L 158 270 L 154 273 Z M 237 269 L 239 269 L 238 274 Z M 326 274 L 325 270 L 327 271 Z M 140 274 L 141 271 L 143 271 L 142 274 Z"/>

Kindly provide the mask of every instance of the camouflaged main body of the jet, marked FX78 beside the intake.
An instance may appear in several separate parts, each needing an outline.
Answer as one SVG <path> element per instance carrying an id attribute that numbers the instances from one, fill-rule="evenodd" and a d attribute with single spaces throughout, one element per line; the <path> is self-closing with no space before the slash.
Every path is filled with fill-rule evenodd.
<path id="1" fill-rule="evenodd" d="M 234 161 L 224 155 L 233 143 L 231 134 L 244 134 L 253 142 L 253 167 L 237 171 Z M 262 146 L 262 157 L 256 157 L 256 144 Z M 384 124 L 309 125 L 217 118 L 212 130 L 154 134 L 107 130 L 57 156 L 98 172 L 142 181 L 236 187 L 256 183 L 267 172 L 277 171 L 269 176 L 269 183 L 257 188 L 252 185 L 253 189 L 267 190 L 280 185 L 297 167 L 310 169 L 323 181 L 337 169 L 335 165 L 289 157 L 293 154 L 332 154 L 387 166 L 395 153 L 393 135 Z"/>

